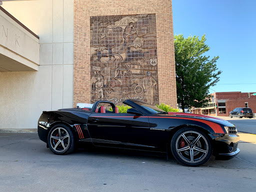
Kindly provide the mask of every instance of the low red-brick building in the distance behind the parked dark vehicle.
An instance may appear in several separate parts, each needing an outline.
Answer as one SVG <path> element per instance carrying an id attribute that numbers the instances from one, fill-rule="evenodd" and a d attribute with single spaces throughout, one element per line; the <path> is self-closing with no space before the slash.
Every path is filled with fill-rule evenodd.
<path id="1" fill-rule="evenodd" d="M 253 92 L 254 93 L 254 92 Z M 251 92 L 216 92 L 212 93 L 212 99 L 205 107 L 191 109 L 195 114 L 206 114 L 210 116 L 228 116 L 229 112 L 236 107 L 249 107 L 256 112 L 256 95 L 250 95 Z"/>

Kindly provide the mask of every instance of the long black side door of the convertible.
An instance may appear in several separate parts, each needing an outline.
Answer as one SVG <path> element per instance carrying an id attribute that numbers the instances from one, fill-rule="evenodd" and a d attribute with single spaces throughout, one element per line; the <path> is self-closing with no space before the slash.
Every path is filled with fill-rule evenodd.
<path id="1" fill-rule="evenodd" d="M 148 116 L 129 113 L 92 113 L 87 122 L 95 145 L 128 147 L 144 145 L 144 132 L 149 130 Z"/>

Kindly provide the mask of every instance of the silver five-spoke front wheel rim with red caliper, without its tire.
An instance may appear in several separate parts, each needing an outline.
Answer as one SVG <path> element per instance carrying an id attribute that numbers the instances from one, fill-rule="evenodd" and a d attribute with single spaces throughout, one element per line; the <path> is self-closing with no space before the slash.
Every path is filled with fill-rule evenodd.
<path id="1" fill-rule="evenodd" d="M 209 150 L 205 137 L 196 131 L 185 131 L 175 143 L 176 152 L 181 159 L 189 163 L 202 161 Z"/>

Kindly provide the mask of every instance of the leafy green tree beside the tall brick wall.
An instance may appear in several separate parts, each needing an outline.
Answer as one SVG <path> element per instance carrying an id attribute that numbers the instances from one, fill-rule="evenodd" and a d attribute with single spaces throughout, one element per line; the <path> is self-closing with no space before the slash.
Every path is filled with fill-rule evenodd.
<path id="1" fill-rule="evenodd" d="M 211 97 L 209 87 L 219 80 L 218 56 L 209 59 L 204 54 L 210 48 L 205 40 L 205 34 L 200 40 L 198 36 L 174 36 L 177 103 L 183 111 L 184 107 L 205 106 Z"/>

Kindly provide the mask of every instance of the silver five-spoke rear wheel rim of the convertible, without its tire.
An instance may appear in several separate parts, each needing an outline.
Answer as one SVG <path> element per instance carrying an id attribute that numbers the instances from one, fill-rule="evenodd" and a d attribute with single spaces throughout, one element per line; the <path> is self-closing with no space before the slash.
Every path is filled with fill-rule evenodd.
<path id="1" fill-rule="evenodd" d="M 67 130 L 63 127 L 56 127 L 50 133 L 50 145 L 56 152 L 62 152 L 70 144 L 70 137 Z"/>

